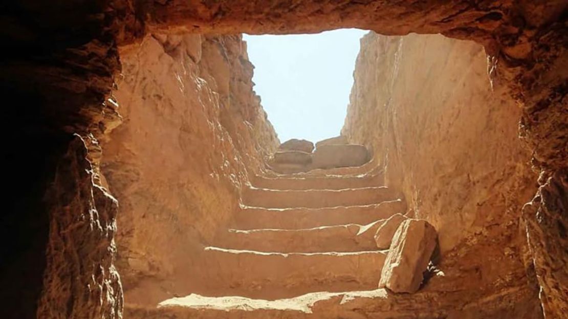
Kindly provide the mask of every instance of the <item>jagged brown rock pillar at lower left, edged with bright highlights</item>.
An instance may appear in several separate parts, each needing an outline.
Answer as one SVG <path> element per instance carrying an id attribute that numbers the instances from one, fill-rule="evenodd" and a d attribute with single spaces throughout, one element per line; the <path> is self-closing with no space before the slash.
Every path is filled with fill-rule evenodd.
<path id="1" fill-rule="evenodd" d="M 94 182 L 86 155 L 85 141 L 76 136 L 47 194 L 48 259 L 37 318 L 122 318 L 122 286 L 114 265 L 118 202 Z M 76 263 L 69 265 L 69 258 Z"/>

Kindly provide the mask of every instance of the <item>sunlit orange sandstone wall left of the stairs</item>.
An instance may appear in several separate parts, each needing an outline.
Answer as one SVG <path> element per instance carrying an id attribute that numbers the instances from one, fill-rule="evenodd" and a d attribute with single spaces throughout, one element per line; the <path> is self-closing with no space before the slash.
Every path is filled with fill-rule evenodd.
<path id="1" fill-rule="evenodd" d="M 121 57 L 123 124 L 103 142 L 101 166 L 120 203 L 126 303 L 154 302 L 190 287 L 196 254 L 279 142 L 240 35 L 154 34 Z"/>

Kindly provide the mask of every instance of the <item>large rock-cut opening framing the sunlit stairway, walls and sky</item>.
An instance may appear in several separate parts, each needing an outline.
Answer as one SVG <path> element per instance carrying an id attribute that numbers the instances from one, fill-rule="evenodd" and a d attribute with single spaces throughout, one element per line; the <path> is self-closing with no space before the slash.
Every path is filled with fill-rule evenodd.
<path id="1" fill-rule="evenodd" d="M 495 271 L 480 254 L 518 275 L 499 283 L 505 293 L 538 304 L 519 259 L 487 249 L 518 249 L 517 207 L 533 190 L 517 182 L 532 178 L 520 110 L 491 90 L 483 48 L 364 33 L 245 36 L 247 45 L 158 33 L 124 52 L 114 93 L 124 121 L 101 169 L 120 202 L 128 317 L 371 313 L 400 302 L 412 307 L 399 317 L 446 316 L 456 308 L 448 287 L 460 287 L 459 308 L 500 280 L 469 280 Z M 407 247 L 420 249 L 390 249 L 403 224 Z M 408 263 L 390 271 L 391 251 Z M 383 287 L 432 293 L 440 307 Z"/>

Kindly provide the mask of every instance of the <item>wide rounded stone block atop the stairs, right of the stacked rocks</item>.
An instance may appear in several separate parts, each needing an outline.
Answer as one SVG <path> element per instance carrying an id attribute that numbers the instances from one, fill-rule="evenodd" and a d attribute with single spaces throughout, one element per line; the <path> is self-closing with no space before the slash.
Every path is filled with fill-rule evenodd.
<path id="1" fill-rule="evenodd" d="M 322 145 L 312 158 L 314 169 L 361 166 L 369 161 L 369 151 L 364 145 Z"/>

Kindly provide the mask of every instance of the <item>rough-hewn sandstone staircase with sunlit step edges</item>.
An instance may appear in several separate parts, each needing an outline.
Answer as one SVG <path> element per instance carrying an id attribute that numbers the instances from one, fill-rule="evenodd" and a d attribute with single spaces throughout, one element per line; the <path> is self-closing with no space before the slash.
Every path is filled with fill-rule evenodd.
<path id="1" fill-rule="evenodd" d="M 353 313 L 353 307 L 388 308 L 392 300 L 377 289 L 388 250 L 377 249 L 374 234 L 379 221 L 407 207 L 398 192 L 382 186 L 375 166 L 369 161 L 253 177 L 232 228 L 204 248 L 203 267 L 211 271 L 202 276 L 202 287 L 129 314 L 363 318 L 340 314 Z"/>

